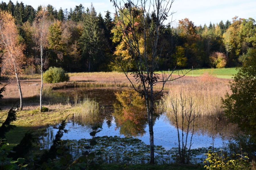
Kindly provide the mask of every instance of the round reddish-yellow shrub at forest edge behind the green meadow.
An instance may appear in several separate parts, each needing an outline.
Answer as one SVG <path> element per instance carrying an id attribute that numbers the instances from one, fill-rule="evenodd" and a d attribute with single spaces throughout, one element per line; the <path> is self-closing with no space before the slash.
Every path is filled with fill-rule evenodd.
<path id="1" fill-rule="evenodd" d="M 227 64 L 227 57 L 224 53 L 213 52 L 209 59 L 212 67 L 224 68 Z"/>

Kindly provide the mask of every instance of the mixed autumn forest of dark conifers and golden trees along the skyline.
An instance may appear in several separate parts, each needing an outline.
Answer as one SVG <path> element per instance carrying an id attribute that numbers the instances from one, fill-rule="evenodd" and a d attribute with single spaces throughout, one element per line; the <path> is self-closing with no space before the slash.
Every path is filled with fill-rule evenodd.
<path id="1" fill-rule="evenodd" d="M 22 44 L 24 57 L 20 58 L 20 73 L 40 72 L 40 45 L 37 28 L 40 26 L 40 11 L 46 12 L 44 27 L 45 47 L 42 55 L 44 71 L 49 67 L 61 67 L 67 72 L 120 71 L 115 64 L 122 61 L 123 68 L 132 71 L 132 58 L 125 57 L 127 47 L 118 38 L 116 15 L 96 12 L 93 4 L 82 4 L 70 9 L 55 9 L 52 5 L 34 9 L 22 2 L 14 4 L 1 2 L 0 9 L 15 18 L 18 29 L 18 43 Z M 137 15 L 140 15 L 138 11 Z M 113 16 L 113 17 L 112 17 Z M 147 16 L 151 22 L 154 15 Z M 136 16 L 135 16 L 136 18 Z M 137 17 L 138 18 L 138 17 Z M 138 30 L 140 25 L 138 24 Z M 207 26 L 193 24 L 189 18 L 179 20 L 160 28 L 159 43 L 165 44 L 158 70 L 179 68 L 224 68 L 243 64 L 247 52 L 256 46 L 256 29 L 253 18 L 234 16 L 232 21 L 220 21 Z M 14 72 L 3 62 L 2 74 Z"/>

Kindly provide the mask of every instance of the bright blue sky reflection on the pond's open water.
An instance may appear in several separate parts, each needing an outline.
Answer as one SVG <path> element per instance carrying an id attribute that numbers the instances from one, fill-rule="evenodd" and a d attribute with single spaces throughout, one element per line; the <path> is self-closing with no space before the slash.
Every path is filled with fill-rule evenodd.
<path id="1" fill-rule="evenodd" d="M 102 131 L 97 133 L 97 136 L 119 136 L 125 137 L 124 135 L 120 135 L 119 129 L 115 129 L 115 121 L 112 121 L 112 126 L 108 128 L 106 120 L 102 125 Z M 68 133 L 65 133 L 62 139 L 69 139 L 69 140 L 79 140 L 81 138 L 91 138 L 90 131 L 91 129 L 87 126 L 81 126 L 77 123 L 68 123 L 67 130 Z M 145 144 L 149 144 L 149 133 L 148 133 L 148 126 L 145 129 L 146 133 L 142 137 L 137 137 L 141 139 Z M 53 133 L 57 133 L 57 129 L 53 129 Z M 181 133 L 181 132 L 180 132 Z M 188 136 L 190 139 L 191 135 Z M 156 120 L 154 125 L 154 144 L 158 146 L 162 146 L 165 149 L 171 149 L 173 147 L 177 147 L 178 144 L 177 139 L 177 129 L 170 125 L 169 121 L 165 120 L 165 116 L 161 115 L 159 119 Z M 214 138 L 214 147 L 221 147 L 224 140 L 220 137 Z M 192 147 L 191 148 L 201 148 L 201 147 L 209 147 L 212 146 L 212 137 L 208 135 L 198 135 L 194 134 L 192 138 Z"/>

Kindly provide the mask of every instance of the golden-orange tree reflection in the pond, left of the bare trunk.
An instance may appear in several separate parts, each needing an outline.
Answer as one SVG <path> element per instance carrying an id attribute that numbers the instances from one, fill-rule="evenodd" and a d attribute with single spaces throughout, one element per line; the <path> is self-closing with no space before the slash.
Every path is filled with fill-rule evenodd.
<path id="1" fill-rule="evenodd" d="M 147 112 L 144 99 L 132 90 L 115 93 L 121 104 L 115 104 L 116 128 L 125 137 L 143 136 L 147 124 Z"/>

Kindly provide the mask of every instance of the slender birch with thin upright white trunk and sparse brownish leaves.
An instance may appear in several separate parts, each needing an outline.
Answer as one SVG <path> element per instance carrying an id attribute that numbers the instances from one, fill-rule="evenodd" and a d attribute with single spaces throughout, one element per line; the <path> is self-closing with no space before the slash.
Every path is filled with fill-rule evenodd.
<path id="1" fill-rule="evenodd" d="M 48 12 L 46 8 L 43 7 L 41 11 L 37 13 L 36 19 L 33 22 L 34 34 L 33 41 L 36 43 L 36 50 L 40 51 L 40 72 L 41 72 L 41 89 L 40 89 L 40 111 L 42 112 L 42 91 L 43 91 L 43 68 L 47 60 L 47 55 L 45 54 L 44 58 L 44 50 L 48 45 L 47 35 L 48 35 L 48 27 L 49 20 L 47 19 Z"/>

